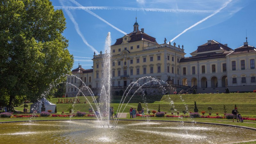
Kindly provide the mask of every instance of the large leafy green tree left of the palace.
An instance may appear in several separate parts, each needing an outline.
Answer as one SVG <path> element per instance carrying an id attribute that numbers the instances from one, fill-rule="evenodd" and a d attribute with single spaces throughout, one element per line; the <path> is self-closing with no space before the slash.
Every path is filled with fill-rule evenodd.
<path id="1" fill-rule="evenodd" d="M 49 0 L 0 0 L 0 90 L 36 100 L 73 65 L 62 10 Z M 59 79 L 59 80 L 56 80 Z"/>

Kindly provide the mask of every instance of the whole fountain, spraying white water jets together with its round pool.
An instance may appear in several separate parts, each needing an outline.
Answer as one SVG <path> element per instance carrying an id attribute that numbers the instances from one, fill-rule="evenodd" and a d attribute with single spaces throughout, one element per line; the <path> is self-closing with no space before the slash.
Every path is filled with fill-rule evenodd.
<path id="1" fill-rule="evenodd" d="M 104 54 L 104 73 L 102 76 L 102 89 L 100 100 L 97 102 L 92 90 L 83 82 L 82 87 L 76 87 L 78 93 L 92 96 L 96 109 L 93 108 L 87 97 L 92 111 L 96 113 L 95 120 L 77 121 L 38 121 L 33 123 L 0 123 L 1 141 L 28 143 L 40 141 L 41 143 L 230 143 L 236 141 L 255 140 L 256 134 L 253 130 L 238 127 L 227 127 L 213 124 L 199 124 L 182 122 L 120 120 L 118 118 L 132 100 L 135 94 L 140 93 L 144 100 L 147 84 L 154 84 L 165 94 L 166 89 L 163 81 L 146 76 L 132 82 L 125 90 L 117 108 L 117 118 L 110 120 L 111 102 L 111 73 L 110 73 L 110 33 L 106 38 Z M 77 79 L 80 79 L 77 77 Z M 144 82 L 144 79 L 147 81 Z M 143 84 L 140 82 L 143 81 Z M 132 93 L 133 91 L 133 93 Z M 76 95 L 77 96 L 77 95 Z M 170 106 L 175 110 L 174 102 L 169 98 Z M 180 96 L 184 107 L 188 106 Z M 73 107 L 75 106 L 75 102 Z M 147 106 L 147 104 L 146 104 Z M 96 112 L 97 111 L 97 112 Z M 147 109 L 148 111 L 148 109 Z M 118 123 L 118 124 L 117 124 Z M 29 129 L 28 129 L 29 126 Z M 242 132 L 241 132 L 242 131 Z M 38 137 L 40 135 L 40 137 Z M 32 139 L 27 139 L 29 136 Z"/>

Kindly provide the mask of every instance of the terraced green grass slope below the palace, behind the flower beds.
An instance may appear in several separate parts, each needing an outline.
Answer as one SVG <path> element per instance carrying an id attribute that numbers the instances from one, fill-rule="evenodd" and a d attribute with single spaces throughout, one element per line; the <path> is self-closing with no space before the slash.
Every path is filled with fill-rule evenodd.
<path id="1" fill-rule="evenodd" d="M 85 101 L 84 97 L 79 98 L 80 102 Z M 87 99 L 92 104 L 92 107 L 96 108 L 95 103 L 93 103 L 92 97 L 87 97 Z M 184 100 L 184 102 L 181 99 Z M 158 105 L 160 104 L 161 111 L 171 113 L 171 100 L 174 102 L 173 105 L 175 106 L 177 111 L 180 111 L 180 113 L 182 112 L 182 110 L 185 110 L 185 105 L 188 106 L 188 111 L 194 112 L 194 101 L 196 101 L 199 112 L 205 111 L 206 114 L 209 113 L 209 111 L 207 110 L 208 106 L 212 107 L 212 115 L 216 115 L 216 112 L 218 112 L 219 115 L 223 115 L 223 105 L 226 106 L 227 113 L 231 113 L 232 109 L 234 109 L 234 106 L 236 104 L 238 111 L 242 116 L 256 117 L 256 93 L 164 95 L 160 101 L 148 103 L 147 106 L 146 104 L 142 103 L 142 107 L 144 107 L 145 109 L 148 108 L 150 111 L 152 111 L 158 110 Z M 56 104 L 58 102 L 58 98 L 52 98 L 50 101 Z M 61 113 L 61 111 L 68 112 L 67 109 L 69 105 L 72 104 L 57 104 L 58 113 Z M 113 103 L 110 105 L 113 106 L 116 110 L 119 104 Z M 122 107 L 122 109 L 124 108 L 124 106 Z M 124 112 L 128 112 L 130 107 L 137 108 L 137 106 L 137 103 L 128 103 Z M 88 112 L 89 107 L 91 107 L 91 105 L 88 102 L 86 104 L 75 104 L 74 111 L 76 112 L 77 110 L 79 110 L 82 112 Z M 18 110 L 17 108 L 15 109 Z M 23 110 L 23 105 L 20 106 L 20 110 Z"/>

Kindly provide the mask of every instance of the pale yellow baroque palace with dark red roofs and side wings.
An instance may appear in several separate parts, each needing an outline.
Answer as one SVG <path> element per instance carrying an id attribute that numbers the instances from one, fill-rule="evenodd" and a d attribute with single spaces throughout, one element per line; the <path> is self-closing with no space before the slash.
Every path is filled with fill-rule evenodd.
<path id="1" fill-rule="evenodd" d="M 189 92 L 197 89 L 198 93 L 253 91 L 256 86 L 255 59 L 256 48 L 244 45 L 231 49 L 227 44 L 215 40 L 197 47 L 185 57 L 183 45 L 173 43 L 158 44 L 156 38 L 139 30 L 139 24 L 133 25 L 133 32 L 116 39 L 111 45 L 112 88 L 126 89 L 130 83 L 144 76 L 151 76 L 167 82 L 177 88 L 177 92 Z M 65 96 L 78 93 L 82 82 L 89 86 L 94 94 L 100 93 L 103 67 L 102 52 L 93 55 L 93 69 L 83 69 L 81 65 L 68 76 Z M 75 77 L 76 76 L 76 77 Z M 144 79 L 146 83 L 147 79 Z M 77 87 L 77 88 L 76 88 Z"/>

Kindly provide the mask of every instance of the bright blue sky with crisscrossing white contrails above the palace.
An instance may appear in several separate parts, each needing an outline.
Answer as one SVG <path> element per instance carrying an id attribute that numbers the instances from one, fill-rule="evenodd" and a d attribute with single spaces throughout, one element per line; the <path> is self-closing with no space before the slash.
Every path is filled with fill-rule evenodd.
<path id="1" fill-rule="evenodd" d="M 185 56 L 207 40 L 216 40 L 235 49 L 245 42 L 256 46 L 255 0 L 52 0 L 63 9 L 69 40 L 68 50 L 83 68 L 92 67 L 93 52 L 104 52 L 105 39 L 111 44 L 133 31 L 137 14 L 139 28 L 156 38 L 184 45 Z"/>

